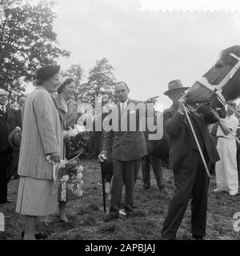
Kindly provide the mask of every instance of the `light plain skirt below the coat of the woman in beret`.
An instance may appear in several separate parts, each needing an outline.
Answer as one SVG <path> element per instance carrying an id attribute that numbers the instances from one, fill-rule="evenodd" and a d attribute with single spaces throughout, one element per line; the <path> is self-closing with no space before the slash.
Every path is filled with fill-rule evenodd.
<path id="1" fill-rule="evenodd" d="M 20 177 L 16 212 L 46 216 L 58 210 L 58 184 L 50 180 Z"/>

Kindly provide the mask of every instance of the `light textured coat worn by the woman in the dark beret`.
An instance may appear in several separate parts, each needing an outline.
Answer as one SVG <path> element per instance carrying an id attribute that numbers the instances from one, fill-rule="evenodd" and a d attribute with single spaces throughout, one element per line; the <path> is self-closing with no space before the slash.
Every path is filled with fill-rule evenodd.
<path id="1" fill-rule="evenodd" d="M 58 106 L 42 86 L 26 99 L 23 108 L 22 142 L 18 165 L 21 176 L 52 180 L 52 165 L 46 155 L 63 156 L 62 120 Z"/>

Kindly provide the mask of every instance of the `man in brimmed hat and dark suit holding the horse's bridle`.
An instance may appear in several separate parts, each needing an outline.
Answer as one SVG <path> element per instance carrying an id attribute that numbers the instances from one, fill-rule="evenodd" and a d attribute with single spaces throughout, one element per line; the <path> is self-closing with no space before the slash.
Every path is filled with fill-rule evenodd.
<path id="1" fill-rule="evenodd" d="M 191 196 L 192 238 L 203 239 L 206 235 L 209 178 L 184 114 L 185 99 L 182 95 L 186 89 L 180 80 L 174 80 L 169 83 L 169 90 L 165 93 L 173 101 L 170 109 L 164 112 L 164 127 L 170 134 L 170 165 L 174 171 L 175 190 L 162 227 L 163 240 L 176 238 Z M 212 111 L 201 104 L 197 111 L 190 112 L 190 120 L 207 164 L 217 162 L 218 150 L 207 128 L 208 123 L 217 122 Z"/>

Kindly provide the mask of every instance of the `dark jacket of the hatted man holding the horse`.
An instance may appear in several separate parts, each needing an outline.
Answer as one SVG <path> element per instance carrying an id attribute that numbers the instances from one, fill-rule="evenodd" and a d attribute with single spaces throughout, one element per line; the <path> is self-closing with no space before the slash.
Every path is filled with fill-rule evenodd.
<path id="1" fill-rule="evenodd" d="M 207 124 L 216 122 L 216 119 L 210 114 L 203 115 L 197 112 L 192 112 L 191 114 L 194 115 L 194 120 L 197 122 L 196 125 L 202 133 L 202 138 L 206 146 L 206 154 L 210 162 L 217 162 L 219 160 L 218 150 L 207 128 Z M 178 112 L 178 106 L 173 105 L 170 109 L 164 111 L 164 127 L 170 135 L 171 169 L 176 170 L 179 164 L 184 162 L 184 158 L 189 150 L 193 148 L 195 143 L 194 136 L 185 114 Z M 190 167 L 191 163 L 188 162 L 187 164 Z"/>

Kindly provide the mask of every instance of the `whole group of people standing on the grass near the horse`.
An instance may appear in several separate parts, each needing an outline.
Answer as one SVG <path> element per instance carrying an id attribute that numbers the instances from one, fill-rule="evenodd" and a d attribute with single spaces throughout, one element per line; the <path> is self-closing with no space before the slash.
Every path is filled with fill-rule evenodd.
<path id="1" fill-rule="evenodd" d="M 0 203 L 7 200 L 7 183 L 19 178 L 16 211 L 25 215 L 22 239 L 46 238 L 36 230 L 38 216 L 45 223 L 52 222 L 58 212 L 60 222 L 68 222 L 67 200 L 59 196 L 55 186 L 52 162 L 70 159 L 66 139 L 74 136 L 73 127 L 78 121 L 78 103 L 74 100 L 76 84 L 72 78 L 59 82 L 60 66 L 43 66 L 36 74 L 36 89 L 26 98 L 19 99 L 19 110 L 7 105 L 8 94 L 0 89 Z M 186 206 L 191 198 L 192 238 L 206 236 L 207 194 L 210 177 L 206 165 L 214 165 L 217 188 L 215 193 L 238 194 L 238 140 L 239 114 L 236 103 L 230 102 L 218 114 L 199 104 L 196 110 L 188 109 L 186 118 L 185 94 L 189 87 L 180 80 L 169 82 L 165 95 L 172 106 L 164 110 L 163 127 L 170 143 L 169 162 L 174 174 L 174 195 L 162 226 L 162 239 L 175 239 Z M 127 106 L 139 102 L 129 98 L 126 82 L 115 84 L 119 102 L 115 106 L 121 121 L 129 118 Z M 148 108 L 146 104 L 143 108 Z M 136 110 L 136 118 L 146 118 Z M 155 110 L 157 112 L 157 110 Z M 153 117 L 154 118 L 154 117 Z M 151 154 L 147 134 L 139 122 L 134 131 L 110 130 L 104 132 L 100 161 L 110 160 L 113 168 L 109 214 L 105 222 L 119 218 L 122 187 L 125 186 L 126 218 L 134 217 L 134 186 L 142 164 L 144 189 L 150 187 L 150 166 L 159 190 L 164 190 L 161 160 Z M 191 127 L 192 125 L 192 127 Z M 194 129 L 194 133 L 193 130 Z M 102 134 L 99 135 L 100 137 Z M 204 162 L 202 161 L 202 156 Z M 206 165 L 204 164 L 206 162 Z M 16 172 L 18 170 L 18 172 Z"/>

